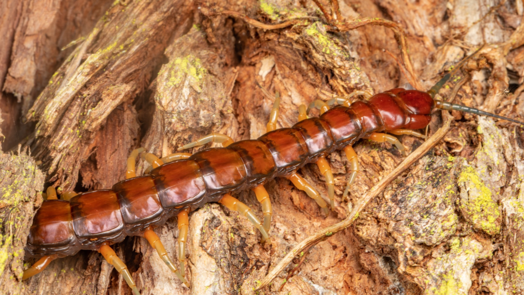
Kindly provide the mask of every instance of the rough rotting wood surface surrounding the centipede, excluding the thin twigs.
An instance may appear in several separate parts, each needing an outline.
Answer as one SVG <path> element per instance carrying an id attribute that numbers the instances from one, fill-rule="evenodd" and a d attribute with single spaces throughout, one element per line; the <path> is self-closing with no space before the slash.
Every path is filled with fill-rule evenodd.
<path id="1" fill-rule="evenodd" d="M 271 93 L 281 93 L 281 128 L 296 122 L 300 103 L 328 99 L 321 90 L 377 93 L 402 87 L 408 80 L 383 50 L 400 59 L 391 30 L 364 26 L 330 33 L 320 10 L 309 1 L 116 1 L 107 12 L 80 13 L 75 27 L 81 31 L 62 23 L 68 19 L 65 12 L 71 11 L 67 7 L 94 2 L 53 2 L 46 11 L 60 22 L 53 20 L 51 26 L 35 18 L 36 2 L 20 3 L 2 3 L 9 8 L 2 13 L 16 23 L 0 31 L 12 44 L 10 55 L 0 54 L 0 108 L 7 137 L 3 148 L 13 148 L 13 142 L 28 135 L 32 155 L 43 161 L 46 185 L 63 190 L 111 187 L 124 178 L 125 159 L 138 145 L 165 156 L 212 131 L 234 140 L 257 138 L 265 132 L 273 101 L 255 81 Z M 515 94 L 506 91 L 510 81 L 520 84 L 524 75 L 520 1 L 341 1 L 340 7 L 347 21 L 380 17 L 405 28 L 423 90 L 470 49 L 486 43 L 479 58 L 465 66 L 468 76 L 456 79 L 468 82 L 454 102 L 524 117 L 521 89 Z M 222 10 L 267 24 L 301 20 L 264 30 L 221 15 Z M 70 47 L 68 55 L 62 53 L 66 57 L 56 53 L 56 48 L 80 37 L 85 40 Z M 28 47 L 21 50 L 20 44 Z M 48 60 L 36 52 L 55 53 Z M 23 65 L 41 70 L 24 71 Z M 42 83 L 47 83 L 43 89 Z M 452 88 L 441 95 L 450 96 Z M 31 107 L 24 117 L 36 122 L 34 135 L 13 131 L 23 128 L 20 118 L 13 120 L 13 112 L 5 111 L 8 106 L 24 112 Z M 354 225 L 316 245 L 282 291 L 278 289 L 286 273 L 262 292 L 522 293 L 524 134 L 507 122 L 452 114 L 455 121 L 444 140 L 374 199 Z M 430 134 L 440 123 L 436 114 Z M 409 151 L 422 143 L 409 136 L 401 140 Z M 266 185 L 274 212 L 271 246 L 261 245 L 247 220 L 221 205 L 208 204 L 191 213 L 191 289 L 182 287 L 145 239 L 128 238 L 114 248 L 143 294 L 253 293 L 257 282 L 294 245 L 345 218 L 351 204 L 402 161 L 389 144 L 361 141 L 355 151 L 361 173 L 351 188 L 350 203 L 340 203 L 347 161 L 343 153 L 329 157 L 339 197 L 328 218 L 289 181 Z M 36 165 L 26 153 L 22 149 L 17 156 L 2 155 L 0 293 L 129 294 L 116 271 L 88 251 L 53 261 L 40 275 L 18 281 L 20 249 L 32 212 L 41 203 L 37 192 L 43 189 L 42 176 L 31 170 Z M 140 162 L 139 172 L 144 168 Z M 324 177 L 316 166 L 308 165 L 300 173 L 327 199 Z M 9 202 L 13 195 L 5 192 L 14 184 L 21 199 Z M 252 192 L 237 197 L 261 215 Z M 24 218 L 16 230 L 9 227 L 13 218 Z M 175 220 L 156 232 L 176 258 Z"/>

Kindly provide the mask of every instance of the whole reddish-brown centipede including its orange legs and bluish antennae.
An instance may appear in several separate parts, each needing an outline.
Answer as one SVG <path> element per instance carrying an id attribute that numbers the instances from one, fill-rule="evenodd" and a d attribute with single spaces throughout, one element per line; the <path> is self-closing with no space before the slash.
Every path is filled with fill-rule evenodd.
<path id="1" fill-rule="evenodd" d="M 112 189 L 82 194 L 67 193 L 62 195 L 63 199 L 57 199 L 54 188 L 50 187 L 47 200 L 34 218 L 26 246 L 27 256 L 43 257 L 24 271 L 24 279 L 36 275 L 57 257 L 74 255 L 80 249 L 97 250 L 122 273 L 134 293 L 139 294 L 127 267 L 110 247 L 126 236 L 136 235 L 144 236 L 168 267 L 188 285 L 184 278 L 184 259 L 190 210 L 208 202 L 219 202 L 246 216 L 260 231 L 262 240 L 268 241 L 272 212 L 263 184 L 270 178 L 289 178 L 328 214 L 327 203 L 313 186 L 297 174 L 297 170 L 308 163 L 318 164 L 326 177 L 333 207 L 333 175 L 325 160 L 325 156 L 332 151 L 344 150 L 352 166 L 344 198 L 358 172 L 357 156 L 352 145 L 359 139 L 387 141 L 405 154 L 405 148 L 395 136 L 381 132 L 425 138 L 413 130 L 426 127 L 435 109 L 486 114 L 524 124 L 434 100 L 436 92 L 451 75 L 451 72 L 447 74 L 428 92 L 396 88 L 374 96 L 355 91 L 347 98 L 334 98 L 328 102 L 316 100 L 308 109 L 304 105 L 300 106 L 297 124 L 276 130 L 279 106 L 277 93 L 267 125 L 268 132 L 257 140 L 233 142 L 227 135 L 212 133 L 182 146 L 180 150 L 209 142 L 222 143 L 224 148 L 212 148 L 194 154 L 175 153 L 162 159 L 146 153 L 144 149 L 137 149 L 128 159 L 127 179 L 115 184 Z M 363 95 L 367 100 L 350 103 L 349 98 L 355 94 Z M 332 107 L 334 104 L 340 106 Z M 308 118 L 310 108 L 319 108 L 320 117 Z M 138 154 L 152 166 L 148 175 L 135 176 L 135 158 Z M 248 206 L 230 195 L 243 189 L 254 190 L 263 208 L 263 222 Z M 158 236 L 152 231 L 152 228 L 164 224 L 175 215 L 178 216 L 180 229 L 180 270 L 174 266 Z"/>

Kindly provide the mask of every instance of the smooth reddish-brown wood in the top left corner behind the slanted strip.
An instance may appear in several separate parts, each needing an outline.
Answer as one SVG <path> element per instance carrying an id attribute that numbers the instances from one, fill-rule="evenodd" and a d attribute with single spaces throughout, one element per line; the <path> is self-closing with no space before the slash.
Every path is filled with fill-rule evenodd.
<path id="1" fill-rule="evenodd" d="M 71 54 L 73 40 L 88 35 L 111 5 L 100 0 L 2 1 L 0 25 L 0 106 L 7 149 L 34 130 L 25 121 L 28 109 L 60 64 Z M 7 118 L 9 117 L 9 118 Z"/>

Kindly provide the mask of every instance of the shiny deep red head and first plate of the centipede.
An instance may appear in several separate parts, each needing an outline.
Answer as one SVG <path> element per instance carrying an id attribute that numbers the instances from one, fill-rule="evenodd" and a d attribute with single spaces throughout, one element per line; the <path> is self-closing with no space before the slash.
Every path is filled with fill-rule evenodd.
<path id="1" fill-rule="evenodd" d="M 386 130 L 421 129 L 431 120 L 435 101 L 427 92 L 395 88 L 369 99 L 384 119 Z"/>

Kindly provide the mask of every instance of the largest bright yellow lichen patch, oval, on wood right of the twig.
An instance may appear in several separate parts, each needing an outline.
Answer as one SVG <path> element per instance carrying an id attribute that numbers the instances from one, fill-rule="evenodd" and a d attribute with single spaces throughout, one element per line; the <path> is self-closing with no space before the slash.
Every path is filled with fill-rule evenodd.
<path id="1" fill-rule="evenodd" d="M 461 193 L 461 209 L 464 217 L 477 229 L 488 235 L 500 231 L 500 212 L 493 201 L 491 190 L 486 187 L 471 166 L 466 166 L 459 176 L 458 183 L 464 185 L 467 196 Z"/>

